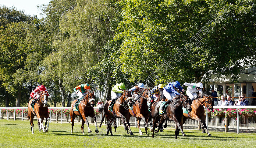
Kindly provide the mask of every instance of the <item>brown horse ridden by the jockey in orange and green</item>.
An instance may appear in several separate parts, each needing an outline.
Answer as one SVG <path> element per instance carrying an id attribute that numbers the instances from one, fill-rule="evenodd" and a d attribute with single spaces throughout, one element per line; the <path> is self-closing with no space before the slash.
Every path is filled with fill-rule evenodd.
<path id="1" fill-rule="evenodd" d="M 73 111 L 73 105 L 76 102 L 76 100 L 73 101 L 73 103 L 71 104 L 71 110 L 70 110 L 70 117 L 71 117 L 71 126 L 72 126 L 72 130 L 71 133 L 73 133 L 73 126 L 74 126 L 74 121 L 76 116 L 79 116 L 82 118 L 82 126 L 81 126 L 81 130 L 82 133 L 84 135 L 84 123 L 86 123 L 86 125 L 88 126 L 88 133 L 91 133 L 91 129 L 89 127 L 89 123 L 86 119 L 86 117 L 91 117 L 94 119 L 95 122 L 95 132 L 98 133 L 98 126 L 97 126 L 97 122 L 96 122 L 96 116 L 94 114 L 94 109 L 93 106 L 95 104 L 95 96 L 94 96 L 94 91 L 90 91 L 88 90 L 88 94 L 86 96 L 84 96 L 84 98 L 82 99 L 81 103 L 78 105 L 78 111 Z"/>

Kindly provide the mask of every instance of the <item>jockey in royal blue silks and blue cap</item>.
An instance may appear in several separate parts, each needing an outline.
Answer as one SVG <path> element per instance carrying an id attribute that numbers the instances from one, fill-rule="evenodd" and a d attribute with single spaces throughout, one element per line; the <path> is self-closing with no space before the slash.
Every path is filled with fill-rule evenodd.
<path id="1" fill-rule="evenodd" d="M 180 93 L 177 92 L 177 89 L 180 90 L 180 92 L 184 92 L 184 89 L 180 86 L 179 81 L 175 82 L 169 82 L 163 90 L 164 96 L 168 99 L 168 101 L 165 102 L 165 104 L 160 109 L 160 114 L 164 111 L 165 105 L 171 103 L 172 99 L 176 97 L 176 95 L 180 95 Z"/>

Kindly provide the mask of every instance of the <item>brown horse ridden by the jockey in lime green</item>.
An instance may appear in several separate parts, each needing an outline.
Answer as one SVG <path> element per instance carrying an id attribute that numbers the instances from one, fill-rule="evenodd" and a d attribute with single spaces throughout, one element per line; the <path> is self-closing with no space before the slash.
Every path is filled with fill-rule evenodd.
<path id="1" fill-rule="evenodd" d="M 108 121 L 107 135 L 110 132 L 111 136 L 113 136 L 111 125 L 112 125 L 112 123 L 114 123 L 115 131 L 116 131 L 116 118 L 121 118 L 121 120 L 124 124 L 124 130 L 127 130 L 127 134 L 128 134 L 128 129 L 129 129 L 130 135 L 133 135 L 131 128 L 130 128 L 130 123 L 129 123 L 130 122 L 129 106 L 132 103 L 131 92 L 128 90 L 127 91 L 124 90 L 123 95 L 116 100 L 116 103 L 113 106 L 112 112 L 108 110 L 108 106 L 110 105 L 111 101 L 112 100 L 107 101 L 104 105 L 104 108 L 103 108 L 104 114 L 102 116 L 101 123 L 100 123 L 99 127 L 101 127 L 101 125 L 104 121 L 104 117 L 106 117 L 107 121 Z M 99 112 L 101 112 L 101 110 L 103 110 L 103 109 L 99 108 Z M 124 117 L 126 118 L 126 123 L 124 121 Z M 126 125 L 128 126 L 128 129 L 127 129 Z"/>

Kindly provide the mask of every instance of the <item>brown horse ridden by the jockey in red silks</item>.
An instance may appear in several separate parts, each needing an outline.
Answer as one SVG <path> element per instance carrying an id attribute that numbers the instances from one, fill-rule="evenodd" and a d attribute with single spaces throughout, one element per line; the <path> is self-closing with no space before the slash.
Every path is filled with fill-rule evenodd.
<path id="1" fill-rule="evenodd" d="M 39 95 L 40 95 L 40 97 L 34 105 L 34 111 L 33 111 L 32 107 L 30 106 L 30 103 L 35 98 L 31 99 L 28 102 L 27 118 L 30 120 L 32 134 L 34 134 L 34 116 L 37 116 L 37 119 L 39 122 L 39 131 L 43 130 L 43 133 L 49 131 L 48 129 L 49 129 L 50 117 L 49 117 L 49 113 L 48 113 L 48 104 L 47 104 L 48 96 L 47 96 L 47 93 L 45 93 L 45 91 L 41 91 Z M 46 129 L 44 129 L 44 118 L 47 118 L 47 120 L 48 120 Z"/>

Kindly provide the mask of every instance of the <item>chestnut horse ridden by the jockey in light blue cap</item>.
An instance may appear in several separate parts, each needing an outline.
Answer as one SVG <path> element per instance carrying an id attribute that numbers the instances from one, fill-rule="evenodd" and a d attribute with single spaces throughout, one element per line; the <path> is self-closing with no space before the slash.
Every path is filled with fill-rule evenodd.
<path id="1" fill-rule="evenodd" d="M 131 116 L 137 118 L 137 126 L 139 128 L 140 135 L 143 135 L 143 133 L 140 130 L 141 119 L 145 123 L 145 131 L 147 135 L 148 117 L 149 117 L 147 99 L 151 99 L 150 94 L 151 94 L 150 90 L 144 89 L 144 92 L 142 93 L 140 99 L 136 100 L 135 104 L 132 106 L 132 110 L 129 109 Z"/>

